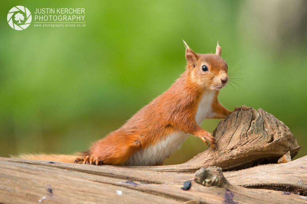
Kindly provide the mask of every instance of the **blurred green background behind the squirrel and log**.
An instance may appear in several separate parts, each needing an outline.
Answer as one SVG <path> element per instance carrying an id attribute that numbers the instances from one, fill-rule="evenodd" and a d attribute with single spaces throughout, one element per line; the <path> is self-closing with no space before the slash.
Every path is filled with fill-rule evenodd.
<path id="1" fill-rule="evenodd" d="M 22 31 L 14 6 L 84 8 L 86 27 Z M 307 155 L 306 1 L 7 1 L 0 7 L 0 156 L 86 150 L 167 90 L 185 70 L 184 39 L 198 53 L 222 47 L 239 85 L 228 109 L 263 108 L 283 121 Z M 245 81 L 245 82 L 241 82 Z M 212 132 L 219 120 L 204 120 Z M 165 164 L 206 146 L 189 137 Z"/>

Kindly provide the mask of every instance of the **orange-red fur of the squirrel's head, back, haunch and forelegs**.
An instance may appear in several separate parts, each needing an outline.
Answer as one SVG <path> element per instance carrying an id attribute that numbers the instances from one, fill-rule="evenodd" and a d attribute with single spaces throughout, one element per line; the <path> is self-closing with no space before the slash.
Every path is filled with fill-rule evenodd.
<path id="1" fill-rule="evenodd" d="M 136 151 L 155 144 L 165 138 L 168 133 L 176 130 L 200 137 L 204 142 L 208 139 L 214 147 L 212 135 L 201 129 L 195 121 L 200 97 L 212 84 L 205 83 L 208 79 L 204 80 L 200 77 L 201 70 L 195 67 L 205 63 L 213 72 L 211 74 L 213 78 L 220 75 L 221 71 L 227 75 L 227 63 L 220 57 L 219 46 L 216 54 L 201 55 L 193 52 L 186 43 L 185 45 L 188 65 L 181 77 L 165 93 L 138 111 L 121 128 L 94 143 L 90 149 L 91 156 L 98 157 L 103 164 L 122 165 Z M 212 105 L 208 107 L 216 113 L 212 118 L 225 118 L 231 111 L 218 102 L 219 89 L 214 91 Z M 204 138 L 204 135 L 209 138 Z"/>

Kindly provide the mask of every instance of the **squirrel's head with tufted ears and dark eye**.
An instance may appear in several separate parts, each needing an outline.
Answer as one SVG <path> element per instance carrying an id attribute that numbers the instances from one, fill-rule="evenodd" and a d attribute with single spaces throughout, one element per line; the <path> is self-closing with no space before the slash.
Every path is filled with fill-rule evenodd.
<path id="1" fill-rule="evenodd" d="M 196 54 L 185 41 L 185 58 L 190 79 L 204 89 L 220 90 L 228 81 L 228 66 L 221 58 L 222 48 L 217 43 L 215 54 Z"/>

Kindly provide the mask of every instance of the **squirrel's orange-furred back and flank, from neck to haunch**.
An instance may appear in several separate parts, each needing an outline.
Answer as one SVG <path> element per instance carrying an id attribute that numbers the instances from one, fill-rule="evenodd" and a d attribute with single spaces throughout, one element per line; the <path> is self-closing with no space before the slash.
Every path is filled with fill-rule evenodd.
<path id="1" fill-rule="evenodd" d="M 103 164 L 123 164 L 135 151 L 154 144 L 175 129 L 194 134 L 197 124 L 195 119 L 192 121 L 201 93 L 196 88 L 190 89 L 192 83 L 185 80 L 186 77 L 179 78 L 121 128 L 96 142 L 90 155 L 99 157 Z"/>

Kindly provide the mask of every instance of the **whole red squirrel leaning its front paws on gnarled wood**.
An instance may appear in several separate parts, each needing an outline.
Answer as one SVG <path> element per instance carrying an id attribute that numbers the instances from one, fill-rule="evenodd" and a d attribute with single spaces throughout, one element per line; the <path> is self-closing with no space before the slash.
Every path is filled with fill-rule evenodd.
<path id="1" fill-rule="evenodd" d="M 200 127 L 203 119 L 223 119 L 229 111 L 217 100 L 228 81 L 221 47 L 215 54 L 196 54 L 185 44 L 186 70 L 163 94 L 139 110 L 122 127 L 77 155 L 22 155 L 18 158 L 83 164 L 126 166 L 162 165 L 189 134 L 216 148 L 211 133 Z M 236 110 L 248 110 L 246 106 Z M 208 142 L 207 142 L 208 140 Z M 78 157 L 79 156 L 79 157 Z"/>

